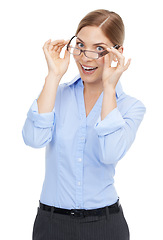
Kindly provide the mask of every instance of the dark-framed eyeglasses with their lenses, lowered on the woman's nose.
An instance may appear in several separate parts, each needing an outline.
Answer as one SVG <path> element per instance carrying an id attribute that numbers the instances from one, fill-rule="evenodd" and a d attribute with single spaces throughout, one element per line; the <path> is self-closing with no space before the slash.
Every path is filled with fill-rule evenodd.
<path id="1" fill-rule="evenodd" d="M 81 53 L 84 53 L 84 55 L 90 59 L 98 59 L 109 53 L 107 50 L 104 50 L 102 52 L 83 50 L 80 47 L 78 47 L 79 44 L 82 44 L 82 43 L 81 42 L 77 43 L 77 36 L 73 36 L 70 39 L 69 43 L 67 44 L 67 51 L 73 54 L 74 56 L 79 56 L 81 55 Z M 118 44 L 113 46 L 113 48 L 116 48 L 116 49 L 118 49 L 119 47 L 120 46 Z"/>

